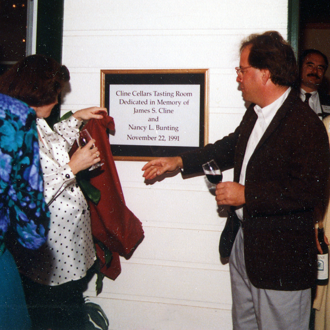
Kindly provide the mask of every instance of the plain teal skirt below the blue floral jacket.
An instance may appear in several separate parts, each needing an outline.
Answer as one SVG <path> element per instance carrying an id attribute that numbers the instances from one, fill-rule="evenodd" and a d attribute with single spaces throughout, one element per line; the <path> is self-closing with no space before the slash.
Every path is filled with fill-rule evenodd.
<path id="1" fill-rule="evenodd" d="M 0 330 L 29 330 L 22 282 L 11 253 L 0 256 Z"/>

